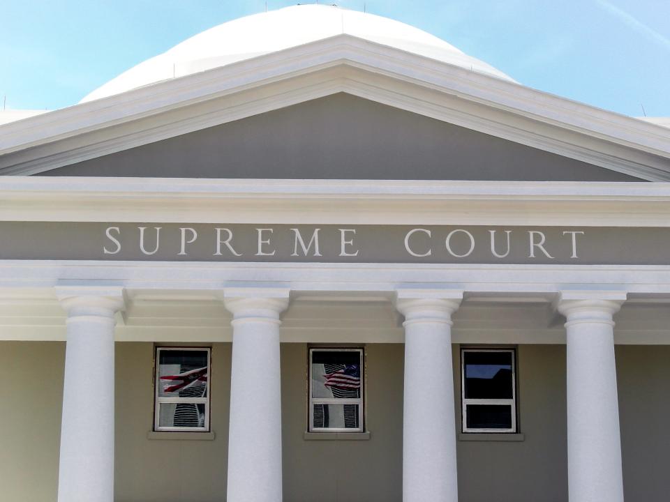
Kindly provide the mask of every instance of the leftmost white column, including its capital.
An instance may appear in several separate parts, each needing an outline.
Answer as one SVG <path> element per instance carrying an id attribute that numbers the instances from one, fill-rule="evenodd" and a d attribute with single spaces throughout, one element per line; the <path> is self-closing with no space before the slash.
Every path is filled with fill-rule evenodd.
<path id="1" fill-rule="evenodd" d="M 114 500 L 114 316 L 121 289 L 57 288 L 68 314 L 59 502 Z"/>

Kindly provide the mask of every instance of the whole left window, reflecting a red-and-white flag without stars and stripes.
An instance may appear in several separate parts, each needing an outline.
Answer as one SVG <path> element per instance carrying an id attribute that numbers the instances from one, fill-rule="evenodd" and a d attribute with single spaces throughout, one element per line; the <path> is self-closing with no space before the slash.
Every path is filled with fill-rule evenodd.
<path id="1" fill-rule="evenodd" d="M 154 430 L 209 431 L 210 349 L 158 347 Z"/>

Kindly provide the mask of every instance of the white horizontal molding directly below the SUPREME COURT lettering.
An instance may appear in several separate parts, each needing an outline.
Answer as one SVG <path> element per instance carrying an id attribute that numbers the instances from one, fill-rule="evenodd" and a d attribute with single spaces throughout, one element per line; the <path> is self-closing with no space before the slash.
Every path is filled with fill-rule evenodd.
<path id="1" fill-rule="evenodd" d="M 8 298 L 15 294 L 29 298 L 63 284 L 99 282 L 129 291 L 200 291 L 210 296 L 218 296 L 218 291 L 228 287 L 366 294 L 426 287 L 526 296 L 597 287 L 625 289 L 629 294 L 667 295 L 670 266 L 0 261 L 0 295 Z"/>

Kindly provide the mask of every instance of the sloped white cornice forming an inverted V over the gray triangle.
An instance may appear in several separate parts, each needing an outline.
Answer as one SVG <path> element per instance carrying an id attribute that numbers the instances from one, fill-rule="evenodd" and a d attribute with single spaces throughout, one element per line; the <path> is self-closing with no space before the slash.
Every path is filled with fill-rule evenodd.
<path id="1" fill-rule="evenodd" d="M 670 181 L 667 128 L 348 35 L 0 126 L 0 174 L 39 174 L 339 92 Z"/>

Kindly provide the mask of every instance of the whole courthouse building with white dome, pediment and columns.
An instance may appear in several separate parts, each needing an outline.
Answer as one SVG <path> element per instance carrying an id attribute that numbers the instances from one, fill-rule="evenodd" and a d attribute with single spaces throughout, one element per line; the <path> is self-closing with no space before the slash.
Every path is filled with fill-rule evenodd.
<path id="1" fill-rule="evenodd" d="M 667 501 L 663 119 L 319 5 L 28 115 L 0 499 Z"/>

